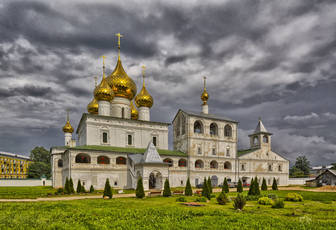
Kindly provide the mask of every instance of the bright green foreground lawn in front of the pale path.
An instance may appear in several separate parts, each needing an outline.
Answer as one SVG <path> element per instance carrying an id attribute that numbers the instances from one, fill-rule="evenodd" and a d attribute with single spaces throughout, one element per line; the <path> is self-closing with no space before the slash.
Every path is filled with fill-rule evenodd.
<path id="1" fill-rule="evenodd" d="M 304 200 L 285 202 L 284 209 L 247 201 L 242 212 L 215 198 L 204 207 L 181 205 L 176 197 L 0 202 L 0 229 L 334 229 L 335 192 L 266 191 L 279 197 L 291 192 Z"/>

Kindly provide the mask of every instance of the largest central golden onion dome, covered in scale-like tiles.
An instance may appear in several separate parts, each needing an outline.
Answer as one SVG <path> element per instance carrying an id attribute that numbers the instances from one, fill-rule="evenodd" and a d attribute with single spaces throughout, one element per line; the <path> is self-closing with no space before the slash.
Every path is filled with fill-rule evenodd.
<path id="1" fill-rule="evenodd" d="M 120 56 L 116 68 L 106 77 L 106 81 L 114 91 L 116 97 L 127 97 L 128 99 L 133 100 L 136 95 L 136 85 L 124 71 Z"/>

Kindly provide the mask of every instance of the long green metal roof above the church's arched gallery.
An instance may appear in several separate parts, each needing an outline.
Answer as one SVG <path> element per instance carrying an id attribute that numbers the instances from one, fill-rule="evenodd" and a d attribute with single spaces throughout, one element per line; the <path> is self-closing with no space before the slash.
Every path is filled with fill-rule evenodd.
<path id="1" fill-rule="evenodd" d="M 98 150 L 98 151 L 109 151 L 109 152 L 129 152 L 129 153 L 144 153 L 145 148 L 122 148 L 122 147 L 112 147 L 112 146 L 101 146 L 101 145 L 82 145 L 76 147 L 59 146 L 53 148 L 68 148 L 68 149 L 83 149 L 83 150 Z M 171 156 L 188 156 L 181 151 L 164 150 L 157 149 L 160 155 L 171 155 Z"/>

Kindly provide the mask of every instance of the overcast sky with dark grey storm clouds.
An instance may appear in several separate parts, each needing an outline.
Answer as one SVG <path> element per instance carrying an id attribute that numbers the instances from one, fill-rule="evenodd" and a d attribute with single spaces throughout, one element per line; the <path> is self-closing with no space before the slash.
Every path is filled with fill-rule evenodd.
<path id="1" fill-rule="evenodd" d="M 154 98 L 151 120 L 179 108 L 240 122 L 249 148 L 261 117 L 272 150 L 295 163 L 336 162 L 334 1 L 1 1 L 0 150 L 29 156 L 64 145 L 69 108 L 77 129 L 94 79 L 121 60 Z M 170 126 L 169 129 L 172 129 Z M 77 134 L 73 135 L 77 140 Z M 169 132 L 172 142 L 172 132 Z M 170 144 L 172 148 L 172 143 Z"/>

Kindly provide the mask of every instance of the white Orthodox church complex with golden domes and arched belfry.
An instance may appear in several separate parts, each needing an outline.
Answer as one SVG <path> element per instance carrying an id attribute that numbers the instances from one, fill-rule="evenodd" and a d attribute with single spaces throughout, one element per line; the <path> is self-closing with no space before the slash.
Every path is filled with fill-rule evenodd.
<path id="1" fill-rule="evenodd" d="M 168 150 L 168 125 L 150 121 L 154 100 L 143 80 L 141 91 L 126 74 L 119 58 L 115 70 L 93 90 L 88 113 L 83 113 L 76 131 L 79 146 L 72 137 L 74 128 L 63 127 L 65 145 L 51 147 L 52 186 L 64 186 L 66 177 L 81 180 L 88 190 L 103 189 L 106 178 L 120 189 L 136 188 L 141 176 L 143 187 L 163 189 L 169 179 L 172 187 L 192 186 L 204 177 L 216 185 L 228 181 L 249 182 L 257 176 L 268 184 L 276 178 L 288 185 L 289 161 L 270 149 L 271 133 L 259 120 L 249 135 L 250 149 L 237 150 L 238 122 L 210 114 L 205 90 L 201 112 L 179 109 L 173 120 L 173 150 Z M 102 56 L 104 57 L 104 56 Z M 144 78 L 144 73 L 143 73 Z M 138 109 L 133 104 L 134 104 Z"/>

